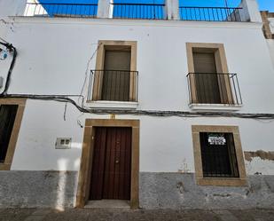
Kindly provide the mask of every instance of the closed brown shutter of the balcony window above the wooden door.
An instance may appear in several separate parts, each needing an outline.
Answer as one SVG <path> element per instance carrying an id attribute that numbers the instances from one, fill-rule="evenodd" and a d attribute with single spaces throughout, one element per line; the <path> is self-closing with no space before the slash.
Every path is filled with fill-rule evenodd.
<path id="1" fill-rule="evenodd" d="M 129 101 L 130 51 L 106 51 L 103 100 Z"/>

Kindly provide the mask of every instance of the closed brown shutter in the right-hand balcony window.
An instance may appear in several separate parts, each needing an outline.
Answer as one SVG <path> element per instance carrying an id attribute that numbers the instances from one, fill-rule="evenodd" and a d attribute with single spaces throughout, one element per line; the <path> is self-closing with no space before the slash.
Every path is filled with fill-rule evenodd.
<path id="1" fill-rule="evenodd" d="M 199 103 L 220 104 L 214 52 L 193 52 L 195 87 Z"/>

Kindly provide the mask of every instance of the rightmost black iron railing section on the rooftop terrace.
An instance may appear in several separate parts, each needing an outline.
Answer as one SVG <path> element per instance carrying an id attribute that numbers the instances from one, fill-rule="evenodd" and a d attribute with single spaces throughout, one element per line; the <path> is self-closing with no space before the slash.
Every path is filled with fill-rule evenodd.
<path id="1" fill-rule="evenodd" d="M 242 21 L 242 8 L 227 7 L 179 7 L 181 20 Z"/>

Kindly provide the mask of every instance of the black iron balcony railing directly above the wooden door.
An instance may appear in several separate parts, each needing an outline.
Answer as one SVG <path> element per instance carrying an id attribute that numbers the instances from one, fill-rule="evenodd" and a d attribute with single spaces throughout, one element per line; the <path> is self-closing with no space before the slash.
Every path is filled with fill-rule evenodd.
<path id="1" fill-rule="evenodd" d="M 138 72 L 91 70 L 88 100 L 137 102 Z"/>

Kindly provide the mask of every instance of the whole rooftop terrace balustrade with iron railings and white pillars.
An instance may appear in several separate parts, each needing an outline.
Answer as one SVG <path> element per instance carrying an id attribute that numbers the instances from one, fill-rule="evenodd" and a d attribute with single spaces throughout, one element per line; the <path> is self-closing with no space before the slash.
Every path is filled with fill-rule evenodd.
<path id="1" fill-rule="evenodd" d="M 223 7 L 192 0 L 159 0 L 139 3 L 135 0 L 111 1 L 94 0 L 90 4 L 47 3 L 27 0 L 24 16 L 27 17 L 64 17 L 100 18 L 126 20 L 183 20 L 183 21 L 223 21 L 242 22 L 258 20 L 260 12 L 252 0 L 242 0 L 239 7 Z M 77 2 L 77 1 L 75 1 Z M 198 4 L 199 3 L 199 4 Z M 189 6 L 190 5 L 190 6 Z M 207 5 L 207 6 L 205 6 Z"/>

